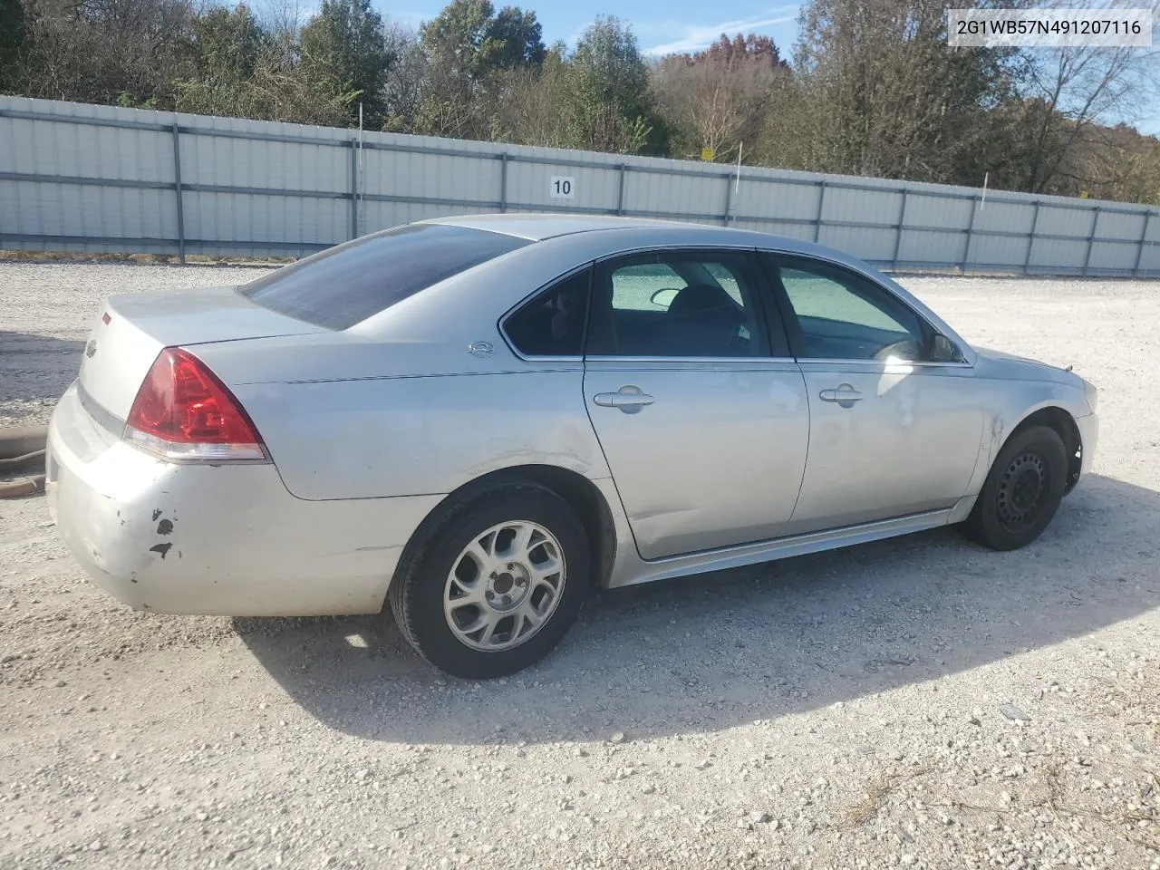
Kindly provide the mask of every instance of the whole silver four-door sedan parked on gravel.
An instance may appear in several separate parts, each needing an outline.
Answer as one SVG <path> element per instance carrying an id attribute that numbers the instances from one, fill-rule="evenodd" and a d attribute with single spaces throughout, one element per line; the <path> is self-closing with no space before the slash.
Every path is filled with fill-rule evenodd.
<path id="1" fill-rule="evenodd" d="M 136 608 L 389 602 L 432 664 L 488 677 L 548 653 L 597 586 L 951 523 L 1028 544 L 1090 465 L 1095 404 L 836 251 L 471 216 L 111 297 L 48 491 Z"/>

